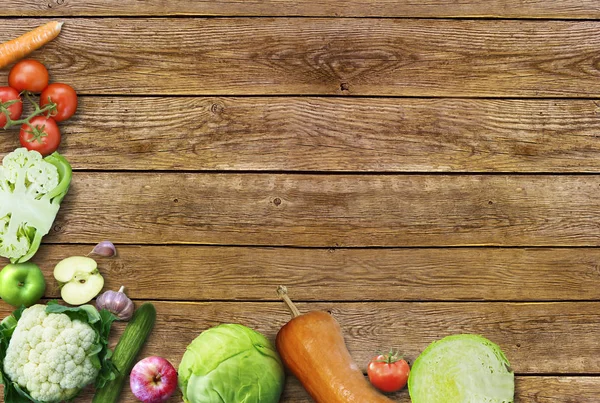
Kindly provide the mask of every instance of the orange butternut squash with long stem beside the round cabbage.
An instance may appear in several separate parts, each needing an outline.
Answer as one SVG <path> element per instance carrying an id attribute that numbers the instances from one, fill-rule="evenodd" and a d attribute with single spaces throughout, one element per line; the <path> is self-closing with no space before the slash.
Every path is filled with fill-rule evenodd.
<path id="1" fill-rule="evenodd" d="M 277 350 L 316 403 L 393 403 L 354 363 L 333 316 L 323 311 L 300 314 L 285 287 L 277 293 L 293 317 L 277 333 Z"/>

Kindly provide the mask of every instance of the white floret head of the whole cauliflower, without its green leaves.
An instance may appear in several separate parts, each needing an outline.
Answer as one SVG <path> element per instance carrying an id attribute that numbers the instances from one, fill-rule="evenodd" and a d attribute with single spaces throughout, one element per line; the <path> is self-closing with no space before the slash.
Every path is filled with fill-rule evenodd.
<path id="1" fill-rule="evenodd" d="M 34 305 L 23 311 L 14 330 L 4 372 L 35 400 L 68 400 L 98 376 L 96 337 L 88 323 Z"/>

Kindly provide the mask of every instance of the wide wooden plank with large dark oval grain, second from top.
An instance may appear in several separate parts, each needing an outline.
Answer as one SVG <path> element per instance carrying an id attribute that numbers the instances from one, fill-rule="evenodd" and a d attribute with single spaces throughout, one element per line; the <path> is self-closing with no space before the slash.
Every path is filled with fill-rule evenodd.
<path id="1" fill-rule="evenodd" d="M 599 45 L 595 21 L 75 18 L 33 57 L 85 94 L 579 98 Z"/>

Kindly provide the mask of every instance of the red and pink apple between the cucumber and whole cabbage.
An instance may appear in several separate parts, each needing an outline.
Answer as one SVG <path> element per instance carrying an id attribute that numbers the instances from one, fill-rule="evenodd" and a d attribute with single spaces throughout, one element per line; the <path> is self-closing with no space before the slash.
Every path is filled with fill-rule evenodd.
<path id="1" fill-rule="evenodd" d="M 177 388 L 177 371 L 162 357 L 147 357 L 135 364 L 129 384 L 139 401 L 165 402 Z"/>

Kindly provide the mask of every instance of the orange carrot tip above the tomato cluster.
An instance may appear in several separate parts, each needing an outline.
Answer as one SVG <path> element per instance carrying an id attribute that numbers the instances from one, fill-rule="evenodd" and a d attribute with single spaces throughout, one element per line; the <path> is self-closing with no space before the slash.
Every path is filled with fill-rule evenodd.
<path id="1" fill-rule="evenodd" d="M 52 21 L 0 45 L 0 69 L 25 57 L 56 38 L 62 22 Z"/>

